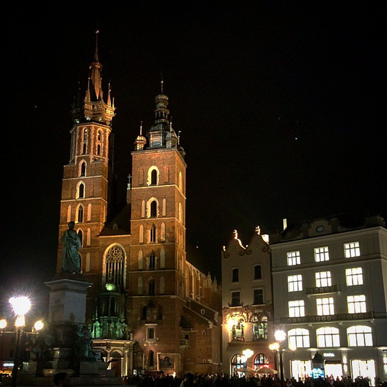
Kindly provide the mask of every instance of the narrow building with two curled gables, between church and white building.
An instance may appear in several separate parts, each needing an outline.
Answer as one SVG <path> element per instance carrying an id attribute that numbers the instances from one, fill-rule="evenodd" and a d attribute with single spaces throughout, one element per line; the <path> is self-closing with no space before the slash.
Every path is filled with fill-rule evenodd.
<path id="1" fill-rule="evenodd" d="M 269 351 L 274 341 L 269 239 L 259 227 L 246 247 L 235 230 L 223 248 L 222 319 L 224 373 L 276 369 Z"/>

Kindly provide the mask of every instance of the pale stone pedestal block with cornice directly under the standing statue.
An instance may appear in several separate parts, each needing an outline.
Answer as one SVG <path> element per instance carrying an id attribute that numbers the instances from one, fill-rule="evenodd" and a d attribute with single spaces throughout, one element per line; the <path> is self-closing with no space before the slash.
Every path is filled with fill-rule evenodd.
<path id="1" fill-rule="evenodd" d="M 86 293 L 92 285 L 80 274 L 67 273 L 45 283 L 50 288 L 48 322 L 50 324 L 84 324 Z"/>

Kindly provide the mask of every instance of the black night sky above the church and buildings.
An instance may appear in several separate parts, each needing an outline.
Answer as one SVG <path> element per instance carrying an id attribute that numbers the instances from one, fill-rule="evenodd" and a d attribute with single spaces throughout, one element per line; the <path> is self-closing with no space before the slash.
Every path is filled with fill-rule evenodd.
<path id="1" fill-rule="evenodd" d="M 3 3 L 5 295 L 53 275 L 70 104 L 78 81 L 84 93 L 97 26 L 123 184 L 163 73 L 187 152 L 188 260 L 203 271 L 219 278 L 234 228 L 248 243 L 257 224 L 272 233 L 284 217 L 387 217 L 383 13 L 337 2 L 248 3 Z"/>

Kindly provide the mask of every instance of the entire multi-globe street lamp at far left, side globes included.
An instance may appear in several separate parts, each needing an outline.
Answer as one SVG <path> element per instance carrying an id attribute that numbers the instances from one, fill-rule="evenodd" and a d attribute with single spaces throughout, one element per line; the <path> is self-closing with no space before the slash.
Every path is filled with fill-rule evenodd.
<path id="1" fill-rule="evenodd" d="M 16 387 L 17 382 L 17 372 L 19 369 L 19 363 L 20 363 L 20 342 L 23 335 L 23 329 L 26 325 L 26 314 L 31 309 L 31 301 L 26 296 L 19 296 L 19 297 L 11 297 L 9 299 L 9 303 L 12 306 L 12 310 L 15 313 L 16 319 L 15 319 L 15 334 L 16 334 L 16 348 L 14 353 L 14 366 L 12 368 L 12 382 L 11 386 Z M 0 355 L 2 354 L 3 349 L 3 331 L 7 327 L 7 320 L 1 319 L 0 320 L 0 334 L 1 334 L 1 349 L 0 349 Z M 43 329 L 44 324 L 41 320 L 38 320 L 34 324 L 33 331 L 38 332 L 39 330 Z M 7 332 L 11 333 L 13 331 Z M 2 357 L 2 356 L 1 356 Z"/>

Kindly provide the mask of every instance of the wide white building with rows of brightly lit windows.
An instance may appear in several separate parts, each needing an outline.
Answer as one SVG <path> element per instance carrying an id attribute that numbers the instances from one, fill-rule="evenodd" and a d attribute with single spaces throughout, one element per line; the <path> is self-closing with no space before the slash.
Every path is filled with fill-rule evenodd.
<path id="1" fill-rule="evenodd" d="M 387 379 L 387 229 L 317 219 L 271 236 L 275 329 L 286 332 L 284 377 L 312 373 Z"/>

